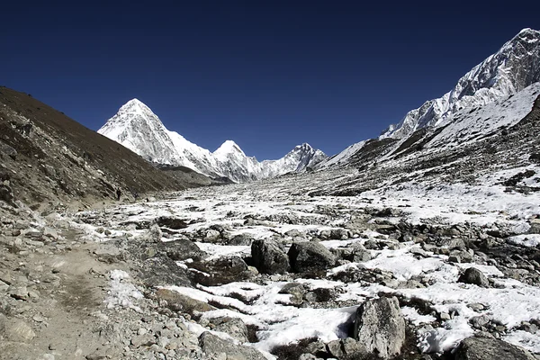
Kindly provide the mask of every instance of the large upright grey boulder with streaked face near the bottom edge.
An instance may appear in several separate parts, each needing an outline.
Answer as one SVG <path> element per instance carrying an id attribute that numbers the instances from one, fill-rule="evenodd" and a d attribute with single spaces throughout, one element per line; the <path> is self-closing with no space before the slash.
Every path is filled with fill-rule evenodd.
<path id="1" fill-rule="evenodd" d="M 358 307 L 355 338 L 367 351 L 383 359 L 400 355 L 405 320 L 396 297 L 369 300 Z"/>

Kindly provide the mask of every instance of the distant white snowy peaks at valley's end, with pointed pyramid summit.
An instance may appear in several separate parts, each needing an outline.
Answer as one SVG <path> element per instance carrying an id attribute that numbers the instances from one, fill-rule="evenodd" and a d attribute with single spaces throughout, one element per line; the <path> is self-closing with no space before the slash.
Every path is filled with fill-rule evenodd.
<path id="1" fill-rule="evenodd" d="M 204 175 L 228 177 L 235 182 L 300 172 L 327 157 L 309 144 L 302 144 L 280 159 L 258 162 L 255 157 L 247 157 L 232 140 L 225 141 L 212 153 L 184 139 L 177 132 L 167 130 L 157 115 L 137 99 L 121 106 L 97 132 L 130 148 L 148 161 L 186 166 Z"/>

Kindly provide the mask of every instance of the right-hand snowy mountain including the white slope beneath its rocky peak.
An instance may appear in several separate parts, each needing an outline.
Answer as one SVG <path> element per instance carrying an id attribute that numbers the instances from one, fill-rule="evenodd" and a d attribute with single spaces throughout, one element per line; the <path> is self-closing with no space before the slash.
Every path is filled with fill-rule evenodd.
<path id="1" fill-rule="evenodd" d="M 453 122 L 459 123 L 460 133 L 465 129 L 475 129 L 476 134 L 488 134 L 497 126 L 509 126 L 519 121 L 521 112 L 509 114 L 508 108 L 514 100 L 511 97 L 528 88 L 527 94 L 522 97 L 521 104 L 524 111 L 530 111 L 536 97 L 537 86 L 540 81 L 540 31 L 524 29 L 519 31 L 512 40 L 505 43 L 499 51 L 486 58 L 482 63 L 473 67 L 457 82 L 454 89 L 438 99 L 429 100 L 418 109 L 408 112 L 398 123 L 391 125 L 379 137 L 363 140 L 344 149 L 334 157 L 319 164 L 318 167 L 347 165 L 358 157 L 359 152 L 371 151 L 371 148 L 384 148 L 384 153 L 390 155 L 417 130 L 438 129 L 447 127 L 443 131 L 446 139 L 455 138 L 460 134 L 448 131 L 455 126 L 448 126 Z M 498 121 L 493 118 L 483 119 L 474 110 L 491 105 L 493 114 L 506 113 L 507 116 Z M 512 108 L 510 106 L 510 108 Z M 499 110 L 497 110 L 499 109 Z M 514 116 L 515 115 L 515 116 Z M 483 128 L 479 128 L 482 123 Z M 457 125 L 456 125 L 457 126 Z M 394 141 L 395 140 L 395 141 Z M 408 142 L 414 142 L 410 139 Z M 366 147 L 370 147 L 366 149 Z M 429 147 L 426 143 L 423 147 Z"/>

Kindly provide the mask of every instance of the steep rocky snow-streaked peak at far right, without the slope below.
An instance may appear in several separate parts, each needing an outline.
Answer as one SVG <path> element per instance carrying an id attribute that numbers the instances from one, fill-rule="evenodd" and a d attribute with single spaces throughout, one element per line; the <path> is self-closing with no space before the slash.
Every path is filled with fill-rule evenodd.
<path id="1" fill-rule="evenodd" d="M 408 112 L 400 123 L 384 130 L 379 139 L 399 139 L 415 130 L 437 126 L 460 109 L 492 103 L 537 81 L 540 81 L 540 31 L 524 29 L 473 67 L 454 89 Z"/>

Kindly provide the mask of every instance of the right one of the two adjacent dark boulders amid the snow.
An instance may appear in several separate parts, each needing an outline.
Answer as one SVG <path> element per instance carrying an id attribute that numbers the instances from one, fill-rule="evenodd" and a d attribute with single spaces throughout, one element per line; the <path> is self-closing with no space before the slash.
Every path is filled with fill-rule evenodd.
<path id="1" fill-rule="evenodd" d="M 317 241 L 293 243 L 288 255 L 291 267 L 297 273 L 325 270 L 336 265 L 336 257 Z"/>

